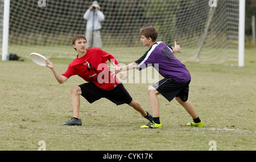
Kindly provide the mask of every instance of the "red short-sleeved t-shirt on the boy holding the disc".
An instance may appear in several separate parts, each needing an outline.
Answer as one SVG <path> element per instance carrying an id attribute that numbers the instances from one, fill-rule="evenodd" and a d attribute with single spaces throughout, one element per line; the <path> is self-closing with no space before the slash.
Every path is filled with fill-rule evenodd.
<path id="1" fill-rule="evenodd" d="M 100 48 L 87 49 L 85 56 L 78 56 L 68 65 L 68 70 L 62 74 L 67 78 L 72 75 L 78 75 L 86 82 L 94 83 L 98 88 L 110 91 L 118 86 L 119 80 L 114 74 L 110 75 L 109 67 L 106 61 L 114 62 L 117 60 L 109 53 Z M 119 66 L 119 65 L 118 65 Z"/>

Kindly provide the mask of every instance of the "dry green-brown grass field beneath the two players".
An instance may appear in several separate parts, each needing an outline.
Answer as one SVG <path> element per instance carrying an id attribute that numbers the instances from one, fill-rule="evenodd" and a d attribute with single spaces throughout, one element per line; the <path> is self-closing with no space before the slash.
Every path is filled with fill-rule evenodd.
<path id="1" fill-rule="evenodd" d="M 192 75 L 189 100 L 205 127 L 188 127 L 192 118 L 175 100 L 159 96 L 162 129 L 139 129 L 141 115 L 106 99 L 89 104 L 81 97 L 82 126 L 61 126 L 72 117 L 70 89 L 84 83 L 72 76 L 60 85 L 47 67 L 24 61 L 0 62 L 0 150 L 202 150 L 216 142 L 221 150 L 256 150 L 256 49 L 245 50 L 245 67 L 185 63 Z M 74 56 L 75 57 L 75 56 Z M 134 56 L 115 56 L 130 63 Z M 179 56 L 177 56 L 179 57 Z M 59 73 L 72 59 L 52 58 Z M 147 88 L 124 84 L 151 112 Z"/>

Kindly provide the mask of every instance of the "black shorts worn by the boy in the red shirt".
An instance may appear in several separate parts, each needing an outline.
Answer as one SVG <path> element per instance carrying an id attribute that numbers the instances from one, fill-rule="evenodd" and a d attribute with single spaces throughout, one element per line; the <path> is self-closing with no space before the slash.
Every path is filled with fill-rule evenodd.
<path id="1" fill-rule="evenodd" d="M 130 104 L 133 100 L 130 94 L 126 91 L 125 87 L 123 87 L 122 83 L 118 84 L 117 87 L 110 91 L 104 91 L 95 86 L 93 83 L 84 83 L 79 85 L 79 87 L 82 91 L 81 96 L 83 96 L 91 104 L 102 97 L 109 99 L 117 105 Z"/>

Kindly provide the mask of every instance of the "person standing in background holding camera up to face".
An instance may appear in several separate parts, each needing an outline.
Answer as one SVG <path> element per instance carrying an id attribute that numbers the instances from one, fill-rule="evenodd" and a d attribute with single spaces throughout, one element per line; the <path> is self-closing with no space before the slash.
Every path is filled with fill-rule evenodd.
<path id="1" fill-rule="evenodd" d="M 87 48 L 97 47 L 102 48 L 101 41 L 101 22 L 105 20 L 105 15 L 100 11 L 100 5 L 97 1 L 93 1 L 92 5 L 84 14 L 86 24 L 86 40 Z"/>

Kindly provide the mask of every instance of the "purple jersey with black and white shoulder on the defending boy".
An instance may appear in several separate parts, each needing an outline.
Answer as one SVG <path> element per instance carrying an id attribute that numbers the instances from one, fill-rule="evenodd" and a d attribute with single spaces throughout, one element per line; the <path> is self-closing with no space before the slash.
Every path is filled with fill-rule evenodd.
<path id="1" fill-rule="evenodd" d="M 172 54 L 172 48 L 164 42 L 159 41 L 153 44 L 135 63 L 138 65 L 138 70 L 154 66 L 160 75 L 173 78 L 179 83 L 185 83 L 191 79 L 188 69 Z"/>

